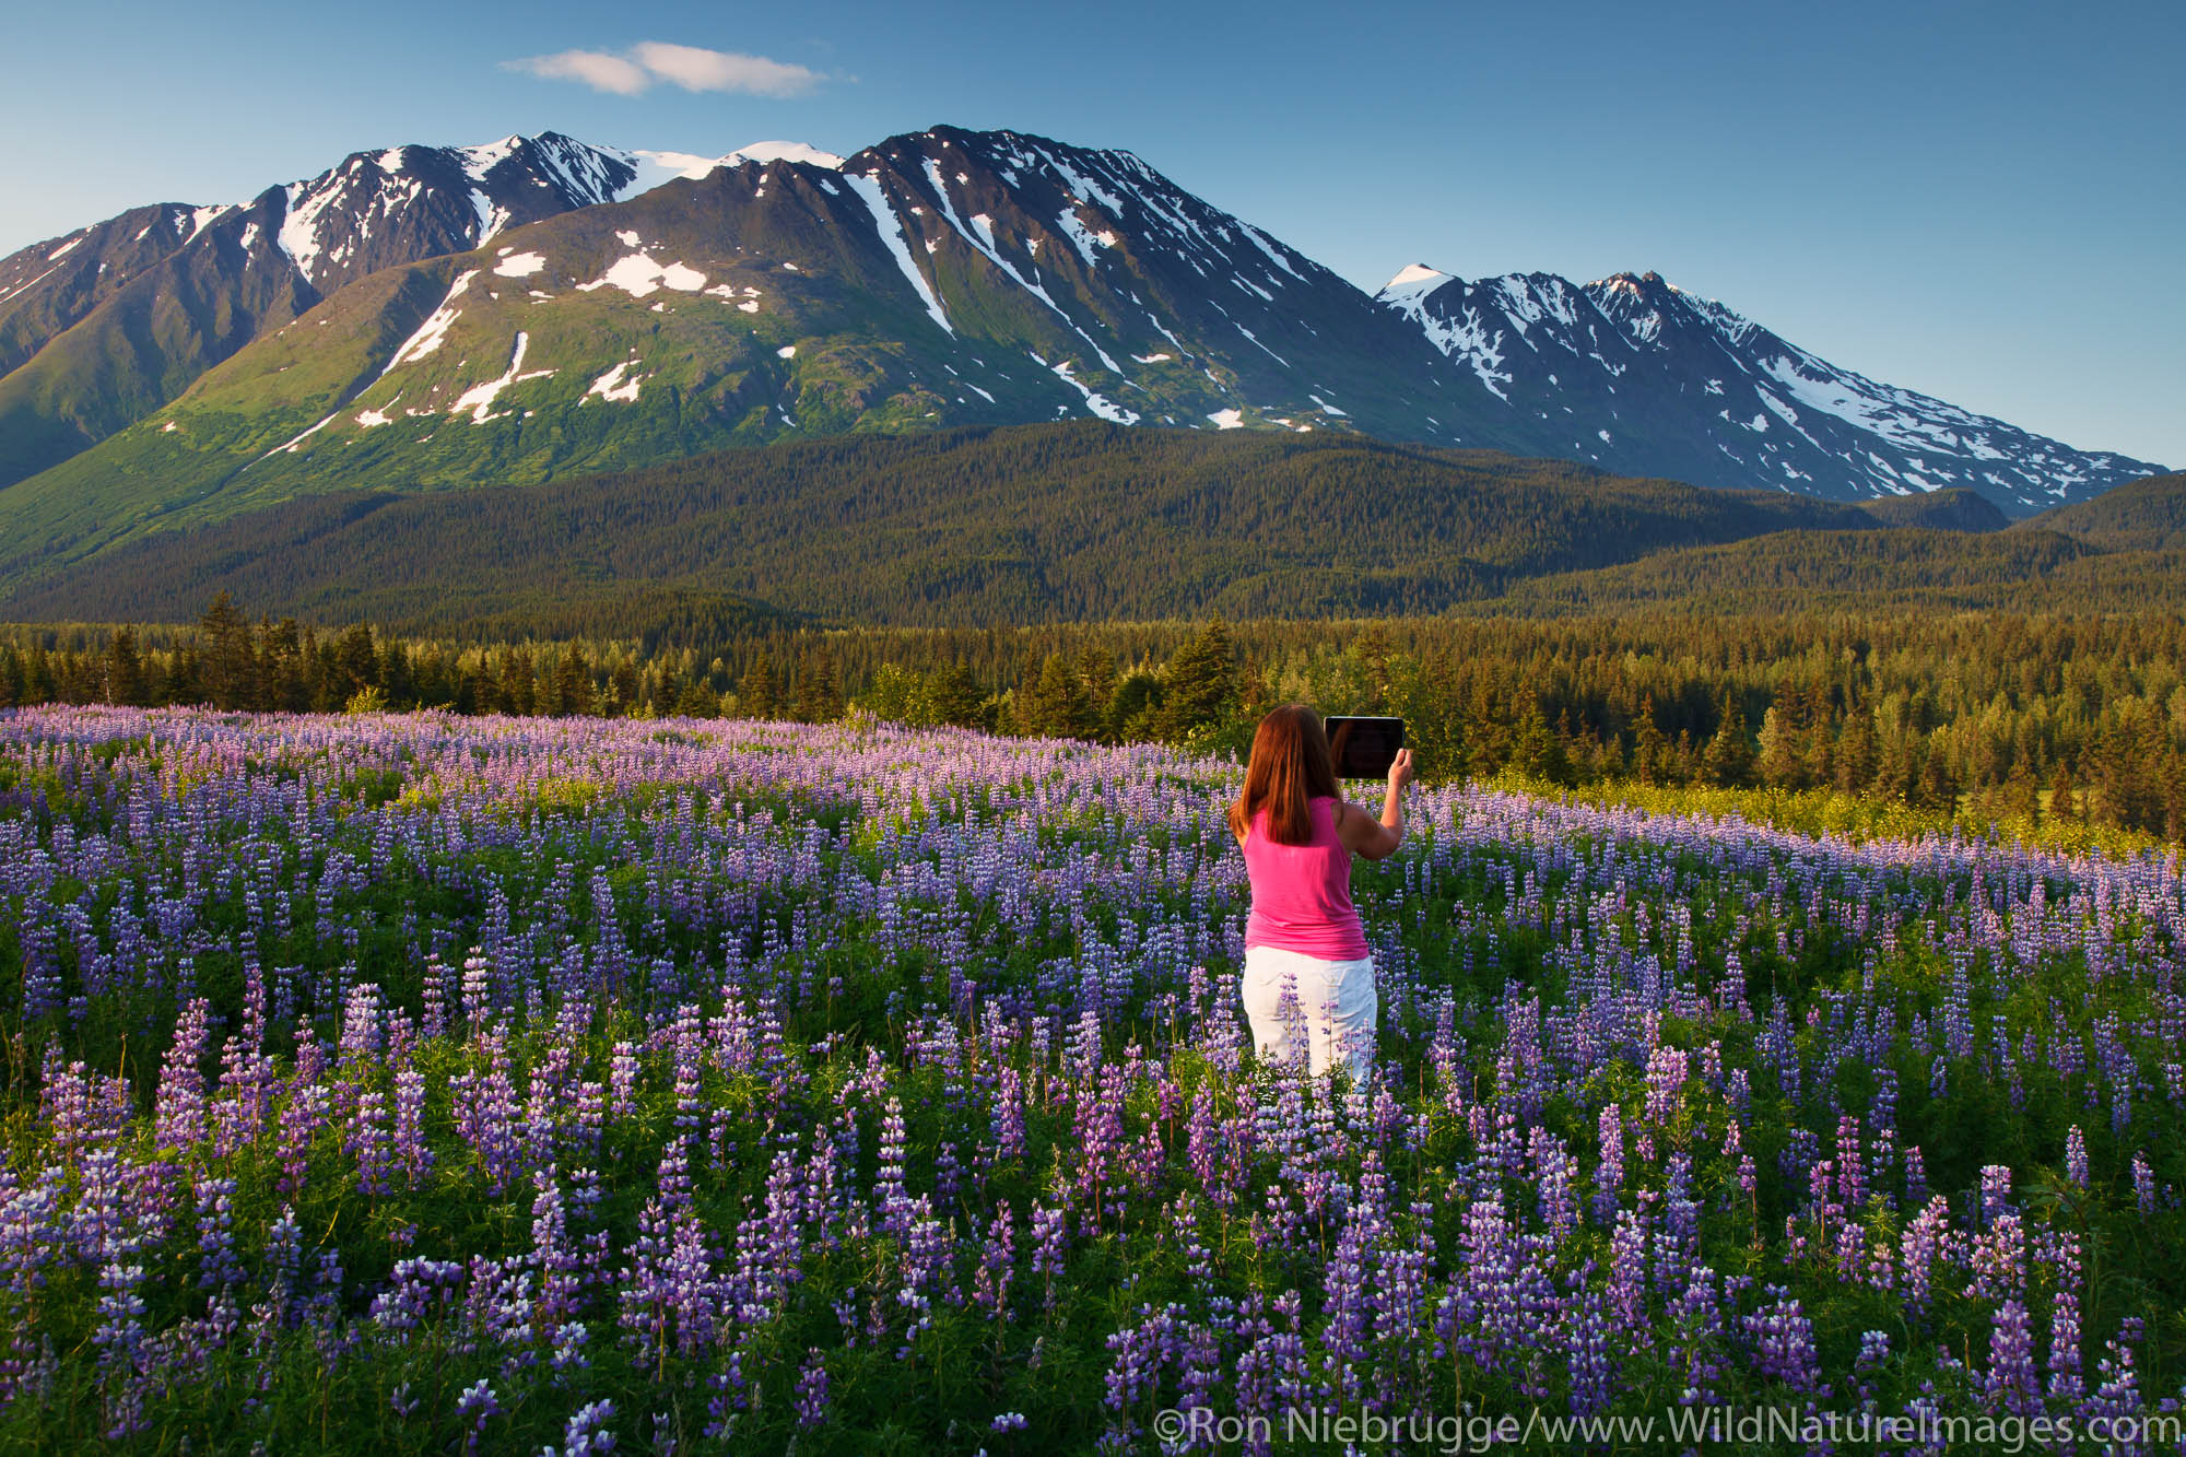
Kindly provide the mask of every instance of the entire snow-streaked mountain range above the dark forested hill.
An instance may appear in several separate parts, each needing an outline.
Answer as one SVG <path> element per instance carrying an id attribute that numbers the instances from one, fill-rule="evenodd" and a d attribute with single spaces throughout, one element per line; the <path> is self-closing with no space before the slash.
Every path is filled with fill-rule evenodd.
<path id="1" fill-rule="evenodd" d="M 308 492 L 1089 416 L 1843 501 L 1965 486 L 2011 514 L 2151 470 L 1834 370 L 1653 273 L 1414 267 L 1366 295 L 1126 151 L 1012 131 L 407 147 L 39 249 L 0 265 L 0 337 L 28 350 L 0 457 L 68 459 L 0 490 L 0 580 Z"/>

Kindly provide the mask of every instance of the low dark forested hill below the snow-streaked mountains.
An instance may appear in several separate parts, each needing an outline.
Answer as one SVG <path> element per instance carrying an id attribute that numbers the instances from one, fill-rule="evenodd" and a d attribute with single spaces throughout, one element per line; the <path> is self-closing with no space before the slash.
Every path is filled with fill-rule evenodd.
<path id="1" fill-rule="evenodd" d="M 1434 613 L 1646 551 L 1865 534 L 1782 492 L 1316 431 L 1100 420 L 732 448 L 463 492 L 306 494 L 140 536 L 0 599 L 20 621 L 254 610 L 433 632 L 763 602 L 861 623 Z"/>

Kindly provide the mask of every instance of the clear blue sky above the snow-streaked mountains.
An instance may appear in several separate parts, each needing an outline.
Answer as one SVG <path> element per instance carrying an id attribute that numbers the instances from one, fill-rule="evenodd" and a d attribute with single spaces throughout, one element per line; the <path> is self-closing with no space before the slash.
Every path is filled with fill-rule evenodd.
<path id="1" fill-rule="evenodd" d="M 645 70 L 647 42 L 776 68 Z M 573 50 L 645 90 L 509 68 Z M 2182 70 L 2175 0 L 22 7 L 0 254 L 393 142 L 1014 127 L 1128 147 L 1366 289 L 1655 269 L 1845 368 L 2186 466 Z"/>

